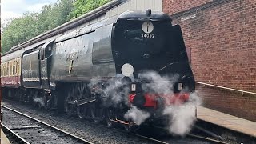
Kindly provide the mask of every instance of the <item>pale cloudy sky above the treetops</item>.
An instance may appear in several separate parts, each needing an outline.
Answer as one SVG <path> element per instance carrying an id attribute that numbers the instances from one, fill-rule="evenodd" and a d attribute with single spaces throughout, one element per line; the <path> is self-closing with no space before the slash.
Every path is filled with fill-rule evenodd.
<path id="1" fill-rule="evenodd" d="M 1 21 L 18 18 L 27 11 L 40 12 L 42 6 L 54 4 L 58 0 L 1 0 Z"/>

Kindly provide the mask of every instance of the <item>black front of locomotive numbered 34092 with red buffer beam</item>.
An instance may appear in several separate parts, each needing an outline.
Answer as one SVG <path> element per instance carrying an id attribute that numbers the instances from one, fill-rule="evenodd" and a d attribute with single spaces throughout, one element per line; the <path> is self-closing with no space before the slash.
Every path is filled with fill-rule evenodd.
<path id="1" fill-rule="evenodd" d="M 128 125 L 142 123 L 130 114 L 134 109 L 147 115 L 143 122 L 165 123 L 166 108 L 190 102 L 194 75 L 181 28 L 171 22 L 167 14 L 146 10 L 125 12 L 114 23 L 112 54 L 116 73 L 129 88 Z"/>

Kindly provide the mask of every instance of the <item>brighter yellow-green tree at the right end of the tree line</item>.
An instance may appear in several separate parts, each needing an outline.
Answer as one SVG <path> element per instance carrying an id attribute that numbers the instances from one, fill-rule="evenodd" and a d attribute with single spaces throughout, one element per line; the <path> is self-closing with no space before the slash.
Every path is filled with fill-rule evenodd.
<path id="1" fill-rule="evenodd" d="M 74 9 L 71 11 L 69 18 L 78 18 L 82 14 L 86 14 L 90 10 L 94 10 L 110 1 L 111 0 L 76 0 L 74 2 Z"/>

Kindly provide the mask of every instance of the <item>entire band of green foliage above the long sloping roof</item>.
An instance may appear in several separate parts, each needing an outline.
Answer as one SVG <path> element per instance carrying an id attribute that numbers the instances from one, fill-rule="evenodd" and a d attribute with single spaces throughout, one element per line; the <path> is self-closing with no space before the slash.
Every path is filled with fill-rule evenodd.
<path id="1" fill-rule="evenodd" d="M 8 25 L 1 27 L 2 53 L 106 2 L 110 0 L 58 0 L 54 6 L 43 6 L 40 13 L 26 13 L 21 18 L 12 19 Z"/>

